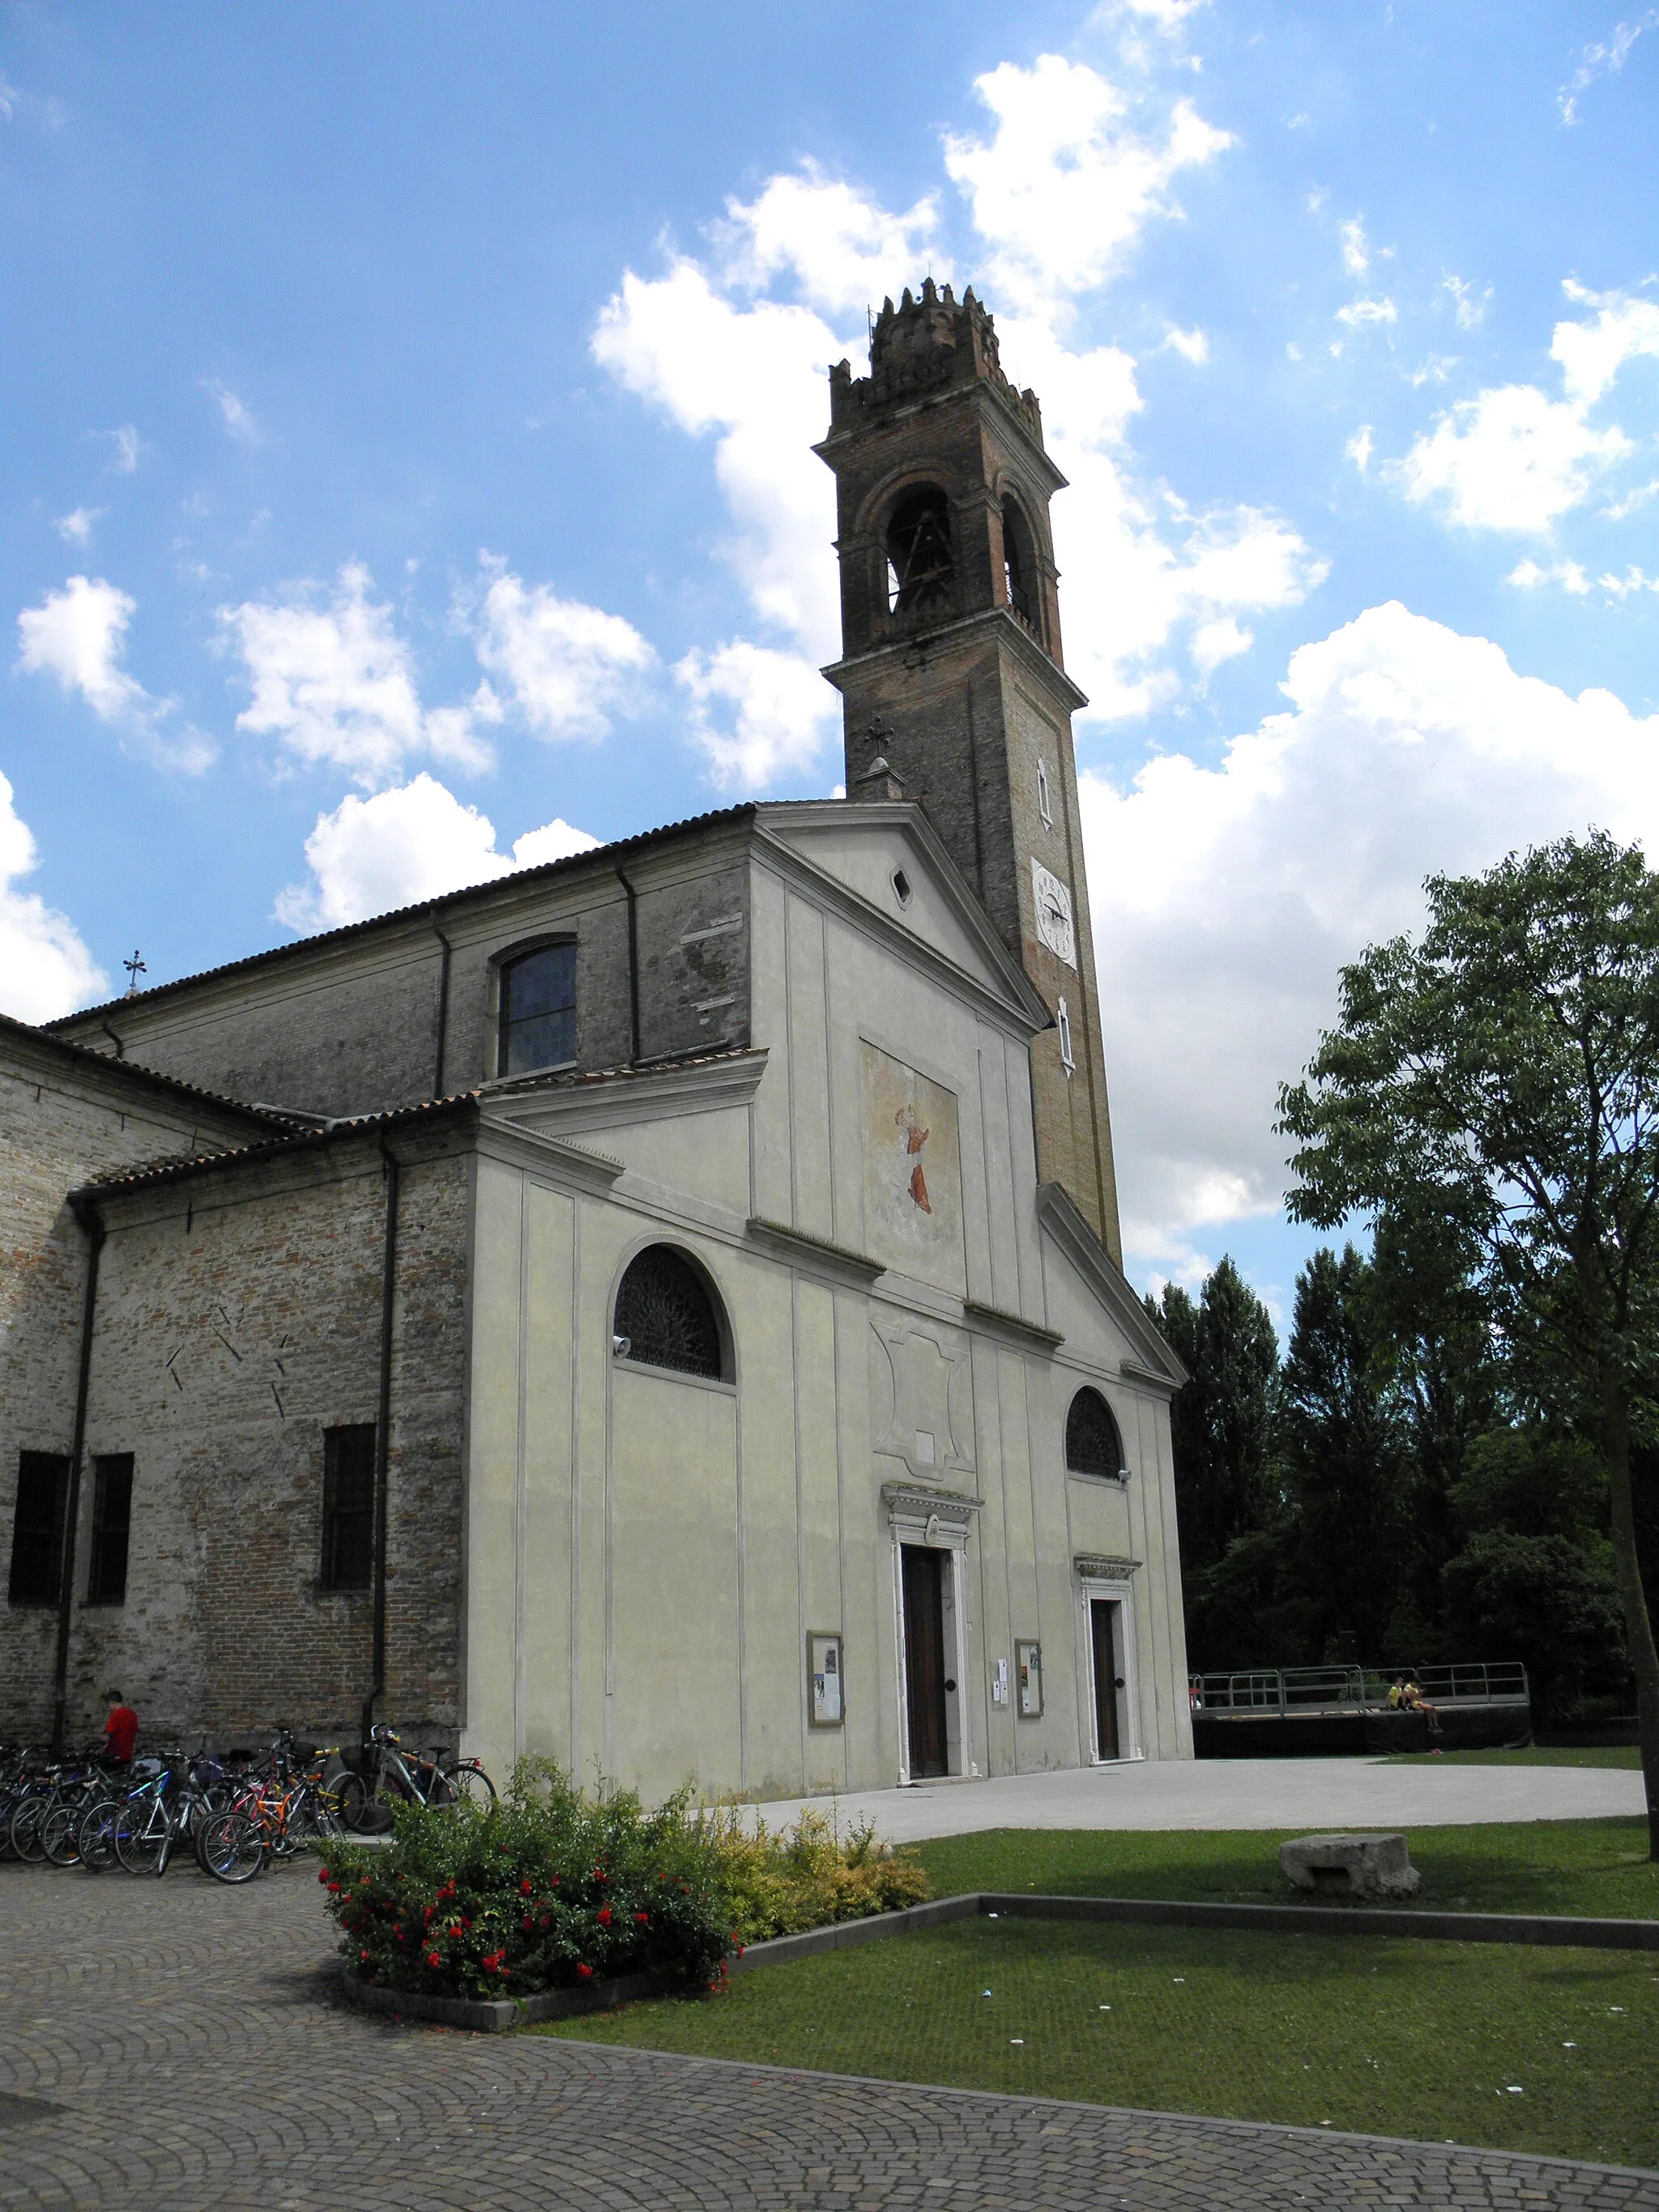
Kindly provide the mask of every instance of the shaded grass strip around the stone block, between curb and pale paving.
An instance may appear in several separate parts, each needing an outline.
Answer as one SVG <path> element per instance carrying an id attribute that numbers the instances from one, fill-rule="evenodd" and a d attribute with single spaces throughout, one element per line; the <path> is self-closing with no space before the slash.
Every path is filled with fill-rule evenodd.
<path id="1" fill-rule="evenodd" d="M 936 1898 L 1037 1889 L 1071 1898 L 1294 1902 L 1279 1845 L 1305 1829 L 989 1829 L 918 1843 Z M 1411 1829 L 1422 1889 L 1411 1905 L 1473 1913 L 1659 1918 L 1646 1820 L 1515 1820 Z M 1332 1911 L 1343 1911 L 1332 1905 Z M 1491 1951 L 1478 1953 L 1491 1958 Z"/>

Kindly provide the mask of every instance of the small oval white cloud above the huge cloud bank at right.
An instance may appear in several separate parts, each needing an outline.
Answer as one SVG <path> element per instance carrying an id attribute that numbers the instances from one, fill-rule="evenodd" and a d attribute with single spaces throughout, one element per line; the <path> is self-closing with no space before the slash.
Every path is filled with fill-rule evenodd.
<path id="1" fill-rule="evenodd" d="M 1621 429 L 1590 429 L 1577 405 L 1502 385 L 1442 414 L 1398 476 L 1409 500 L 1444 498 L 1467 529 L 1546 531 L 1628 451 Z"/>

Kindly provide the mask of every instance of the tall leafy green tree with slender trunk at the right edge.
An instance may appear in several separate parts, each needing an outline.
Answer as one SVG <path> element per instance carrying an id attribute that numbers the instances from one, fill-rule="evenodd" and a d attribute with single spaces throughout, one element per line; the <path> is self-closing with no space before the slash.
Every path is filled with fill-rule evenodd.
<path id="1" fill-rule="evenodd" d="M 1338 1026 L 1281 1091 L 1290 1210 L 1438 1223 L 1495 1327 L 1595 1407 L 1659 1860 L 1659 1650 L 1632 1411 L 1659 1307 L 1659 878 L 1593 834 L 1431 876 L 1422 942 L 1343 969 Z"/>

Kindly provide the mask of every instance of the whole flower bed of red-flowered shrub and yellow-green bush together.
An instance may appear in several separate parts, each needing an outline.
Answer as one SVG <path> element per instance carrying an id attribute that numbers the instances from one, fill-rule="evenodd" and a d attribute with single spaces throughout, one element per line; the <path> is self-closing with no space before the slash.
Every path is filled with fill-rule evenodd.
<path id="1" fill-rule="evenodd" d="M 805 1814 L 750 1836 L 681 1792 L 588 1798 L 524 1759 L 484 1809 L 398 1807 L 392 1843 L 330 1845 L 319 1880 L 356 1980 L 434 1997 L 526 1997 L 624 1975 L 719 1986 L 726 1953 L 763 1936 L 891 1911 L 927 1874 L 869 1829 L 838 1838 Z"/>

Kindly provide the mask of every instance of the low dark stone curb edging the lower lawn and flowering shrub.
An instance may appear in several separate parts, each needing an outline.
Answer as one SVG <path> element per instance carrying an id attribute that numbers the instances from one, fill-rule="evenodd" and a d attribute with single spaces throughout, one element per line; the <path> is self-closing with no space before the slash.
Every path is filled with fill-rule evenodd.
<path id="1" fill-rule="evenodd" d="M 942 1927 L 949 1920 L 1117 1920 L 1141 1927 L 1210 1927 L 1210 1929 L 1276 1929 L 1283 1936 L 1416 1936 L 1440 1942 L 1535 1942 L 1575 1944 L 1588 1951 L 1659 1951 L 1659 1920 L 1566 1920 L 1559 1913 L 1431 1913 L 1376 1909 L 1367 1905 L 1199 1905 L 1186 1898 L 1051 1898 L 1031 1891 L 1004 1896 L 995 1889 L 967 1889 L 956 1898 L 933 1898 L 907 1905 L 898 1913 L 872 1913 L 867 1920 L 834 1920 L 801 1936 L 772 1936 L 752 1942 L 728 1958 L 730 1973 L 752 1973 L 757 1966 L 787 1966 L 796 1958 L 821 1951 L 852 1951 L 914 1929 Z M 343 1973 L 341 1986 L 352 2004 L 372 2013 L 398 2013 L 405 2020 L 431 2020 L 447 2028 L 473 2028 L 500 2035 L 507 2028 L 529 2028 L 540 2020 L 568 2020 L 575 2013 L 608 2013 L 635 1997 L 661 1997 L 672 1984 L 664 1975 L 628 1973 L 588 1989 L 553 1989 L 540 1997 L 427 1997 L 420 1991 L 378 1989 Z"/>

